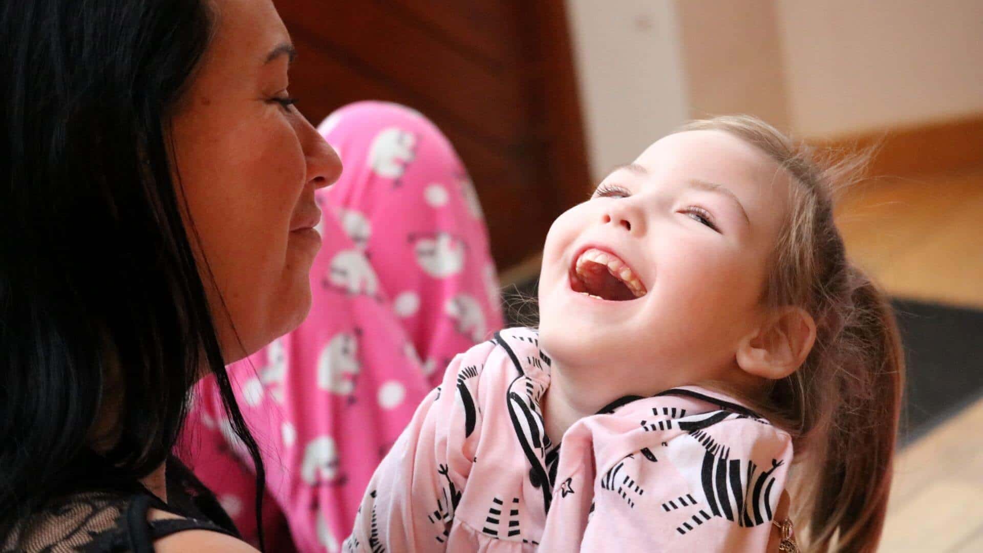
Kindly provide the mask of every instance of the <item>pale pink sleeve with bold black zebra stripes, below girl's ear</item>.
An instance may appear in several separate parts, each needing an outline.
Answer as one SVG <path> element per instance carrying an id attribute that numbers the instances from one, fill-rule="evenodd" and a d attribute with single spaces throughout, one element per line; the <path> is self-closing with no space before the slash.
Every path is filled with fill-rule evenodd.
<path id="1" fill-rule="evenodd" d="M 653 443 L 598 474 L 580 549 L 765 551 L 791 458 L 788 434 L 749 418 Z"/>

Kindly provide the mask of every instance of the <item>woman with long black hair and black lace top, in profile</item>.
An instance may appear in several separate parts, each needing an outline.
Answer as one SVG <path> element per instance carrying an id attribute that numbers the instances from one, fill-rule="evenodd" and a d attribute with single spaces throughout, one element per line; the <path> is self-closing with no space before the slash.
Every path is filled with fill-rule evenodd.
<path id="1" fill-rule="evenodd" d="M 0 550 L 252 551 L 170 458 L 213 374 L 311 303 L 337 155 L 247 0 L 0 7 Z M 187 492 L 191 490 L 191 494 Z"/>

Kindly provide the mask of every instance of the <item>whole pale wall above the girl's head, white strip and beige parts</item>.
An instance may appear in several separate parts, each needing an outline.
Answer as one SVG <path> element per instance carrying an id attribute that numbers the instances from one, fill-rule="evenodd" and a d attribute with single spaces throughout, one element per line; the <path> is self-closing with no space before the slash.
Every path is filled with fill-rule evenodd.
<path id="1" fill-rule="evenodd" d="M 566 1 L 596 176 L 708 113 L 808 138 L 983 113 L 983 0 Z"/>

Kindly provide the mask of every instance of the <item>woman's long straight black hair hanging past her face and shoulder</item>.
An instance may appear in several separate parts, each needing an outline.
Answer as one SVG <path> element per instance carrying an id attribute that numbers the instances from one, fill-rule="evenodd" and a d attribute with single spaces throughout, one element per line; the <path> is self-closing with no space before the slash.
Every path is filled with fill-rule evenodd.
<path id="1" fill-rule="evenodd" d="M 207 371 L 256 465 L 260 517 L 260 452 L 168 144 L 212 27 L 203 0 L 0 3 L 0 543 L 60 494 L 159 467 Z M 96 451 L 107 411 L 117 433 Z"/>

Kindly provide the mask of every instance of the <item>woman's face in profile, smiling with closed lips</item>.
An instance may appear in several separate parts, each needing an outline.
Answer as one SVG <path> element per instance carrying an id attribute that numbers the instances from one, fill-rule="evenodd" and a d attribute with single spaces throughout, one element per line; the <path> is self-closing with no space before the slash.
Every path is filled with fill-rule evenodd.
<path id="1" fill-rule="evenodd" d="M 272 3 L 210 6 L 213 36 L 173 117 L 172 138 L 185 225 L 230 363 L 307 316 L 308 274 L 320 247 L 314 191 L 338 178 L 341 161 L 290 105 L 293 48 Z"/>

